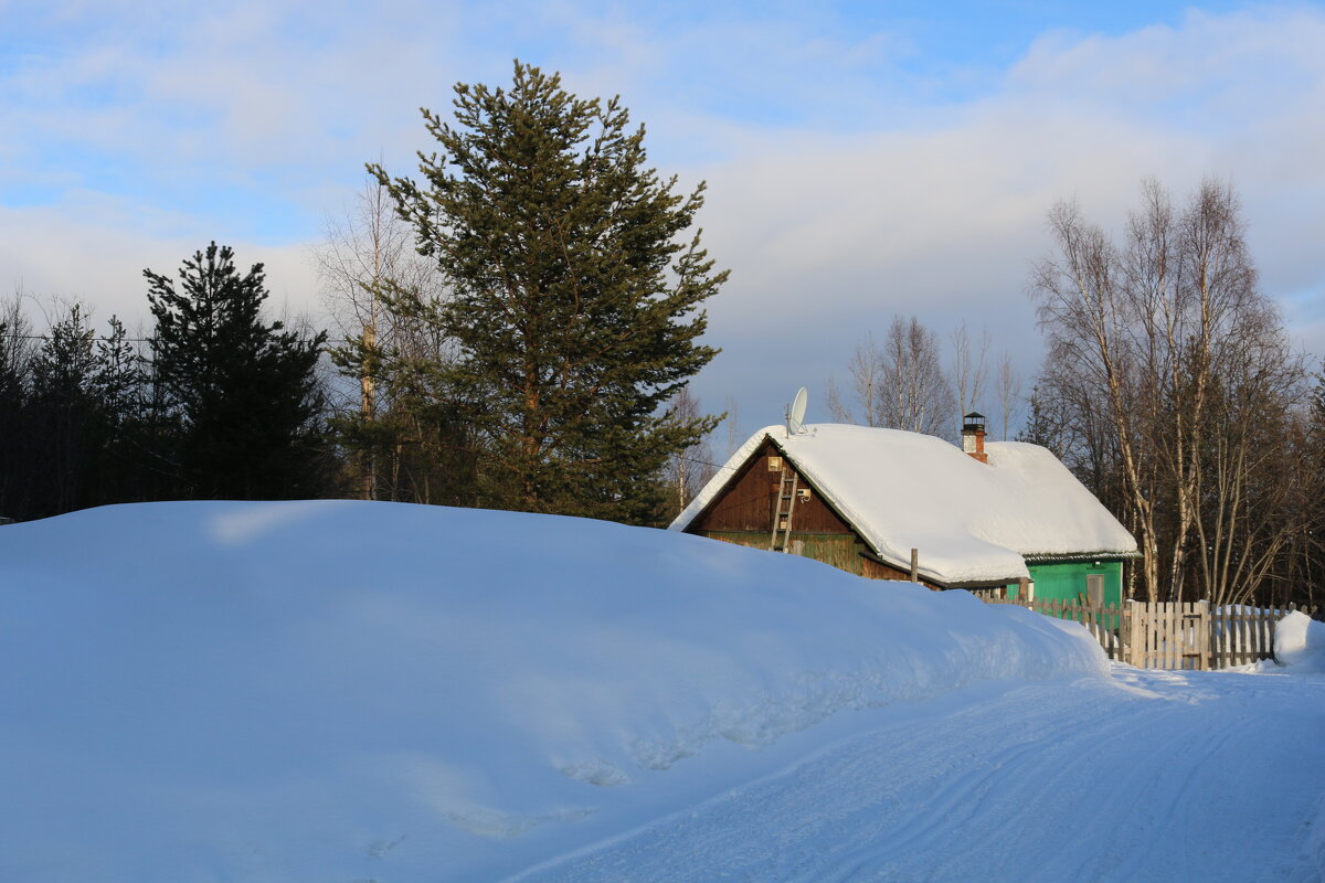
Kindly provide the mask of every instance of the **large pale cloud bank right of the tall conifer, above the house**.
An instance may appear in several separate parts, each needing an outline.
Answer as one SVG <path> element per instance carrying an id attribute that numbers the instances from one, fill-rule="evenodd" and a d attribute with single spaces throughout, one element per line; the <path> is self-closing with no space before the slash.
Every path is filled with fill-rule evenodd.
<path id="1" fill-rule="evenodd" d="M 1325 352 L 1320 45 L 1316 11 L 1192 13 L 1179 28 L 1041 40 L 1002 90 L 924 126 L 745 138 L 739 159 L 705 169 L 705 224 L 734 278 L 712 307 L 727 353 L 698 392 L 734 392 L 758 402 L 742 409 L 750 424 L 774 421 L 790 391 L 840 375 L 893 314 L 984 324 L 1030 373 L 1040 343 L 1024 286 L 1048 248 L 1047 209 L 1076 197 L 1117 228 L 1146 176 L 1179 196 L 1231 177 L 1264 290 L 1301 346 Z"/>

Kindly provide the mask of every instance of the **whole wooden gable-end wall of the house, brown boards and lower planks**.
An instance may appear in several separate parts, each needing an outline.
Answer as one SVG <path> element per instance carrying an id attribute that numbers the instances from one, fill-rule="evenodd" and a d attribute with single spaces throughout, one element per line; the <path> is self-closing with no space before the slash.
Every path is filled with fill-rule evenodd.
<path id="1" fill-rule="evenodd" d="M 770 457 L 782 458 L 782 451 L 771 441 L 765 441 L 713 503 L 690 523 L 686 532 L 738 545 L 768 548 L 782 478 L 780 469 L 768 469 Z M 782 463 L 788 471 L 796 471 L 784 458 Z M 872 580 L 910 579 L 908 571 L 873 560 L 869 545 L 820 496 L 819 488 L 803 473 L 796 473 L 796 477 L 798 487 L 808 488 L 810 498 L 796 499 L 788 541 L 791 552 Z M 931 589 L 938 588 L 925 580 L 921 582 Z"/>

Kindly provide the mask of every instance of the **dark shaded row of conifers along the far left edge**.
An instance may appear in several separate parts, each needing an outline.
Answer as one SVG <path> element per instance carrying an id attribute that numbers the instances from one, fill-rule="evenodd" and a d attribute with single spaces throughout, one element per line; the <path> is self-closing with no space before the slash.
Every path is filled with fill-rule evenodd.
<path id="1" fill-rule="evenodd" d="M 107 503 L 335 494 L 315 365 L 323 335 L 262 319 L 261 265 L 228 248 L 146 273 L 155 327 L 130 340 L 86 307 L 33 328 L 23 298 L 0 312 L 0 515 Z"/>

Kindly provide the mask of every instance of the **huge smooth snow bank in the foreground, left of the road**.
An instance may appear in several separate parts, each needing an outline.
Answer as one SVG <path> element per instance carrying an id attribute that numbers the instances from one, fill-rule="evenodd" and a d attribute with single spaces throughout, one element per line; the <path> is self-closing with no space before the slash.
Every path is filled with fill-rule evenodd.
<path id="1" fill-rule="evenodd" d="M 0 600 L 0 878 L 29 883 L 496 879 L 829 716 L 1106 671 L 963 592 L 387 503 L 4 527 Z"/>

